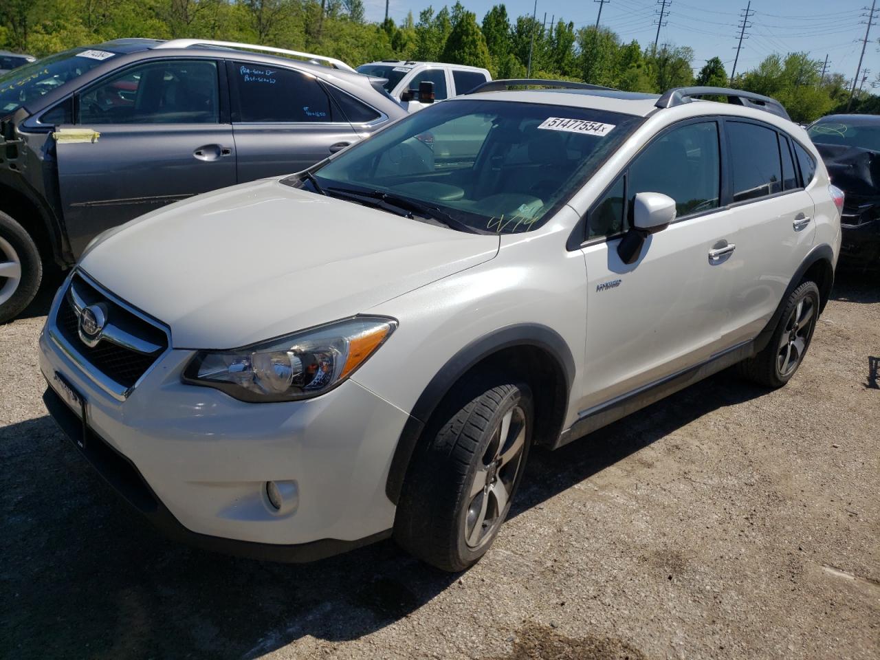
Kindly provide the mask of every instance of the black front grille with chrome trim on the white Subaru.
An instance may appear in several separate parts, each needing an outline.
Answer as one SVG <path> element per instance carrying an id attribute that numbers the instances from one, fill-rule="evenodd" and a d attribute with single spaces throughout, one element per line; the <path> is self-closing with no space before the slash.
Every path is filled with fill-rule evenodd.
<path id="1" fill-rule="evenodd" d="M 106 308 L 105 332 L 94 347 L 86 345 L 79 336 L 77 303 L 103 304 Z M 116 392 L 119 394 L 134 387 L 168 348 L 168 335 L 161 327 L 133 312 L 78 273 L 73 275 L 68 289 L 64 291 L 55 327 L 84 363 L 121 386 L 120 392 Z M 137 344 L 141 350 L 117 343 L 120 336 L 129 344 Z"/>

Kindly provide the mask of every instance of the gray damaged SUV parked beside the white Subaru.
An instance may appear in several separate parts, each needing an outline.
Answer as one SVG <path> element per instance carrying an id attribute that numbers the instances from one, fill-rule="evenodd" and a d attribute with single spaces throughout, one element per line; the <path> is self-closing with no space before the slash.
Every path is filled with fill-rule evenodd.
<path id="1" fill-rule="evenodd" d="M 304 170 L 405 116 L 383 83 L 333 58 L 185 39 L 73 48 L 0 77 L 0 322 L 44 262 L 72 265 L 101 231 Z"/>

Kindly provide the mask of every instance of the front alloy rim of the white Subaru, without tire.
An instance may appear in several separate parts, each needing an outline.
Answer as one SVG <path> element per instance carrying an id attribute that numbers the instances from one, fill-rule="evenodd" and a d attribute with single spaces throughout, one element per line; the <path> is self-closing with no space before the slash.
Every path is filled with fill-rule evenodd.
<path id="1" fill-rule="evenodd" d="M 473 477 L 465 517 L 465 541 L 471 548 L 492 539 L 502 523 L 510 495 L 523 466 L 525 413 L 513 407 L 495 427 Z"/>

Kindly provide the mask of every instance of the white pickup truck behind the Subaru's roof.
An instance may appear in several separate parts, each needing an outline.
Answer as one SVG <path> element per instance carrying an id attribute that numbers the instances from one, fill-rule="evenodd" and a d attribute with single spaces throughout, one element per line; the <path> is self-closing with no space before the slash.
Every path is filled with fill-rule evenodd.
<path id="1" fill-rule="evenodd" d="M 388 81 L 384 85 L 385 91 L 411 113 L 428 105 L 418 98 L 420 83 L 434 83 L 434 99 L 439 101 L 470 92 L 477 85 L 492 79 L 488 70 L 464 64 L 408 60 L 370 62 L 357 67 L 357 72 L 385 78 Z"/>

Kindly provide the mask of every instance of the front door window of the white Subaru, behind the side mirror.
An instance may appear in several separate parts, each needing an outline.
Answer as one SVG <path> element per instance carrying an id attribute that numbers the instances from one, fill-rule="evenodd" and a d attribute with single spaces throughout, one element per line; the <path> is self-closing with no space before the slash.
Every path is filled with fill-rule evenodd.
<path id="1" fill-rule="evenodd" d="M 629 167 L 627 216 L 638 193 L 675 200 L 678 217 L 717 209 L 721 196 L 718 125 L 715 121 L 674 128 L 650 143 Z"/>

